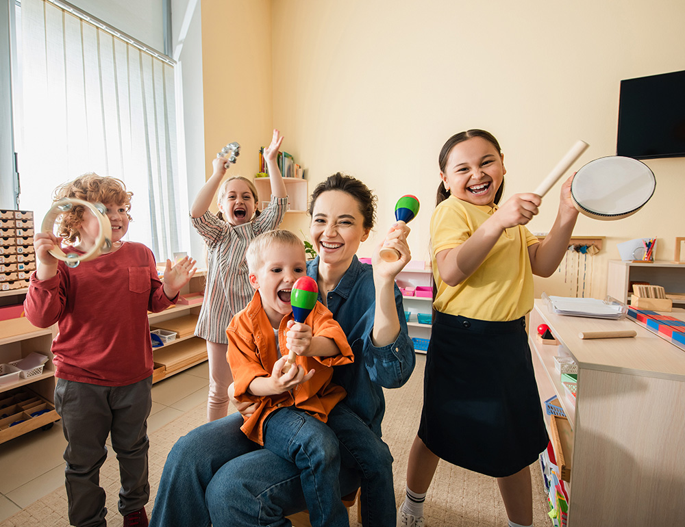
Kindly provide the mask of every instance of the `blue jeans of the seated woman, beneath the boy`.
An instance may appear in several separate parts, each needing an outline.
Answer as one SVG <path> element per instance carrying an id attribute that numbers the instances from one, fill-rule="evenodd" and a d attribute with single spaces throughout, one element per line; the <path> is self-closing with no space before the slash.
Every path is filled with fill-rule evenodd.
<path id="1" fill-rule="evenodd" d="M 362 482 L 362 523 L 395 525 L 393 457 L 360 418 L 338 403 L 328 426 L 340 441 L 340 492 Z M 155 499 L 153 527 L 290 526 L 285 516 L 307 508 L 297 467 L 260 448 L 240 430 L 232 413 L 203 424 L 177 441 L 169 452 Z M 351 452 L 364 459 L 353 459 Z M 370 505 L 370 506 L 369 506 Z"/>

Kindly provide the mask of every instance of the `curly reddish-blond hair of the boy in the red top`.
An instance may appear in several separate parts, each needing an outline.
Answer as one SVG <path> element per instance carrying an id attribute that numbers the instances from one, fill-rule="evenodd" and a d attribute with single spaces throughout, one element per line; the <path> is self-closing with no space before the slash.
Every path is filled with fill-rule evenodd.
<path id="1" fill-rule="evenodd" d="M 77 177 L 73 181 L 55 188 L 53 200 L 60 201 L 62 198 L 76 198 L 90 203 L 124 205 L 126 216 L 128 216 L 129 220 L 132 220 L 133 218 L 129 214 L 131 210 L 131 196 L 133 196 L 133 192 L 126 190 L 126 185 L 121 179 L 99 176 L 95 172 L 86 172 L 86 174 Z M 66 242 L 73 243 L 79 238 L 78 229 L 83 223 L 85 211 L 86 207 L 76 205 L 60 217 L 57 232 Z"/>

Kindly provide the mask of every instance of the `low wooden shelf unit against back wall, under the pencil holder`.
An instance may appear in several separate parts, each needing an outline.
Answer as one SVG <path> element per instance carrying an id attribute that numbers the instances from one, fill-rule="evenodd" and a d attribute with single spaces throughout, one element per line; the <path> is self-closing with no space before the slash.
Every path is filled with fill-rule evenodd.
<path id="1" fill-rule="evenodd" d="M 685 307 L 685 264 L 610 260 L 606 294 L 628 303 L 631 282 L 661 285 L 667 297 L 673 300 L 673 307 Z"/>

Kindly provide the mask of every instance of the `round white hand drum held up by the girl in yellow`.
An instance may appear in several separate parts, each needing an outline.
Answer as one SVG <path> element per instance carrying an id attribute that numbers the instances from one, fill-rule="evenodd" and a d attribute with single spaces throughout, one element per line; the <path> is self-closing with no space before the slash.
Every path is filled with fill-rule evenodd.
<path id="1" fill-rule="evenodd" d="M 595 220 L 620 220 L 640 210 L 656 189 L 656 177 L 632 157 L 600 157 L 582 166 L 571 183 L 573 205 Z"/>

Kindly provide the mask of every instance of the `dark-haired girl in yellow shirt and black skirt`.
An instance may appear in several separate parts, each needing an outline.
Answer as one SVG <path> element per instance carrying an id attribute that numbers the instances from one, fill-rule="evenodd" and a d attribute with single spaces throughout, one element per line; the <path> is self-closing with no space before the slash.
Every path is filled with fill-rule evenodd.
<path id="1" fill-rule="evenodd" d="M 549 277 L 569 246 L 578 216 L 573 178 L 539 242 L 524 225 L 538 214 L 540 196 L 514 194 L 497 205 L 506 168 L 492 134 L 457 133 L 438 162 L 430 226 L 435 316 L 397 526 L 425 525 L 423 501 L 439 459 L 497 478 L 509 525 L 530 526 L 528 467 L 548 438 L 524 316 L 533 305 L 533 274 Z"/>

